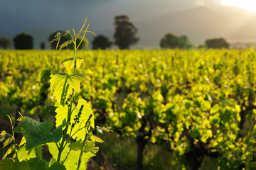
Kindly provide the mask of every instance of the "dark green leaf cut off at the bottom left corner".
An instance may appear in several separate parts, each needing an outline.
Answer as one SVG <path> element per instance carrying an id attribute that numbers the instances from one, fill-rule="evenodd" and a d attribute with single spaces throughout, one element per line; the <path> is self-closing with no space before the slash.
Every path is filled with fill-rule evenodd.
<path id="1" fill-rule="evenodd" d="M 0 170 L 30 170 L 28 162 L 15 163 L 13 159 L 2 159 L 0 161 Z"/>

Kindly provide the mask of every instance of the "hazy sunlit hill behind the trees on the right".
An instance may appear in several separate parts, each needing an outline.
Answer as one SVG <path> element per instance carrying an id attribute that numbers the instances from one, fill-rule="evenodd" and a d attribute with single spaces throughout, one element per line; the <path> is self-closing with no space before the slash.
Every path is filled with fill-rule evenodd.
<path id="1" fill-rule="evenodd" d="M 193 44 L 223 37 L 232 43 L 256 42 L 256 13 L 235 7 L 201 6 L 137 21 L 139 44 L 155 46 L 165 33 L 188 35 Z"/>

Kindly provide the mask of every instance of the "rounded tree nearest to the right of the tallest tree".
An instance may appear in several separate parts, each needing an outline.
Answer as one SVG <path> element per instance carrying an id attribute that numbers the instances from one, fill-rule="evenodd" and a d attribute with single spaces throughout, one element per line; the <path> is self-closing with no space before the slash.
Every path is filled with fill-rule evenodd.
<path id="1" fill-rule="evenodd" d="M 176 47 L 178 47 L 178 38 L 176 37 L 176 35 L 167 33 L 166 35 L 164 35 L 164 38 L 161 39 L 160 47 L 161 48 L 176 48 Z"/>

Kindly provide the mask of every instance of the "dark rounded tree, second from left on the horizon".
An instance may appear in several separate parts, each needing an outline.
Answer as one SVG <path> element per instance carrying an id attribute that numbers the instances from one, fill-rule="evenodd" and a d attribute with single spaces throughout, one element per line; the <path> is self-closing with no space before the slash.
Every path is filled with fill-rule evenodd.
<path id="1" fill-rule="evenodd" d="M 33 49 L 33 37 L 26 33 L 20 33 L 14 38 L 14 47 L 18 50 Z"/>

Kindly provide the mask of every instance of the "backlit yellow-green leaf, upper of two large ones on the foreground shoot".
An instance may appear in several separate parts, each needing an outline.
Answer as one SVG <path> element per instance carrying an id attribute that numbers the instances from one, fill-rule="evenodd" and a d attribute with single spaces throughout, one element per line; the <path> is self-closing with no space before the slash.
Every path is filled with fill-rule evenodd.
<path id="1" fill-rule="evenodd" d="M 50 94 L 63 106 L 68 96 L 72 94 L 73 89 L 78 92 L 80 91 L 82 74 L 68 75 L 65 73 L 55 73 L 50 75 L 50 77 Z"/>

